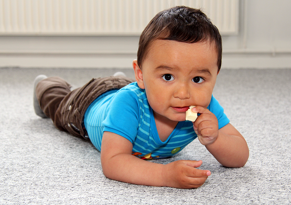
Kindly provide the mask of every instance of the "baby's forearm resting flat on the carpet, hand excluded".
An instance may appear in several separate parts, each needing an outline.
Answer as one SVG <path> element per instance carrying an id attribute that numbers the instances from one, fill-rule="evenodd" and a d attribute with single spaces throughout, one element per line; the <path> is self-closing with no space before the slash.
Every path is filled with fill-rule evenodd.
<path id="1" fill-rule="evenodd" d="M 129 154 L 118 154 L 102 163 L 103 173 L 107 178 L 147 186 L 165 186 L 163 166 Z"/>

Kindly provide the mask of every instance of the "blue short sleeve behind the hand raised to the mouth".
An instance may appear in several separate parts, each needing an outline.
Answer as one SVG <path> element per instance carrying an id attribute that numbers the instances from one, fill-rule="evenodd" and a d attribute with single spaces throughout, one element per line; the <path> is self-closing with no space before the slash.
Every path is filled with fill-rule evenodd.
<path id="1" fill-rule="evenodd" d="M 210 104 L 208 106 L 208 109 L 210 112 L 212 112 L 218 120 L 218 129 L 226 126 L 229 123 L 228 117 L 226 117 L 226 114 L 224 113 L 223 107 L 219 104 L 217 99 L 215 99 L 212 95 Z"/>

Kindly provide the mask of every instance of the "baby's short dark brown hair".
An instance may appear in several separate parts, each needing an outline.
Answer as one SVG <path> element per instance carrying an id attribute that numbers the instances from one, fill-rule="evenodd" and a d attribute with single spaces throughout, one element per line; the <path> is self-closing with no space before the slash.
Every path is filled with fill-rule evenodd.
<path id="1" fill-rule="evenodd" d="M 157 39 L 185 43 L 214 42 L 217 50 L 217 66 L 221 68 L 221 35 L 211 20 L 200 10 L 186 6 L 176 6 L 159 12 L 145 27 L 139 38 L 137 63 L 141 68 L 150 43 Z"/>

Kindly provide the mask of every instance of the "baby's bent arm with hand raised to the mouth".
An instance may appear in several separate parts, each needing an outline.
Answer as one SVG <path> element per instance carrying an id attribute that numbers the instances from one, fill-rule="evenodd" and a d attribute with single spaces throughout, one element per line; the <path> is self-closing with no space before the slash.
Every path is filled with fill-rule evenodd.
<path id="1" fill-rule="evenodd" d="M 201 144 L 226 167 L 242 167 L 249 158 L 249 148 L 244 137 L 231 124 L 218 129 L 216 116 L 201 106 L 192 108 L 200 113 L 194 130 Z"/>

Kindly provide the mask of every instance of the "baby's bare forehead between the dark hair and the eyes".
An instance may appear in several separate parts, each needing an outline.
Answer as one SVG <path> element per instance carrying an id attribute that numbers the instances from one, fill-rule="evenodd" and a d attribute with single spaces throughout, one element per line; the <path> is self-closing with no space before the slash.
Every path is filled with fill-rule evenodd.
<path id="1" fill-rule="evenodd" d="M 150 45 L 142 69 L 154 69 L 155 72 L 180 70 L 189 74 L 200 68 L 218 69 L 217 61 L 217 50 L 212 42 L 185 43 L 159 39 Z"/>

